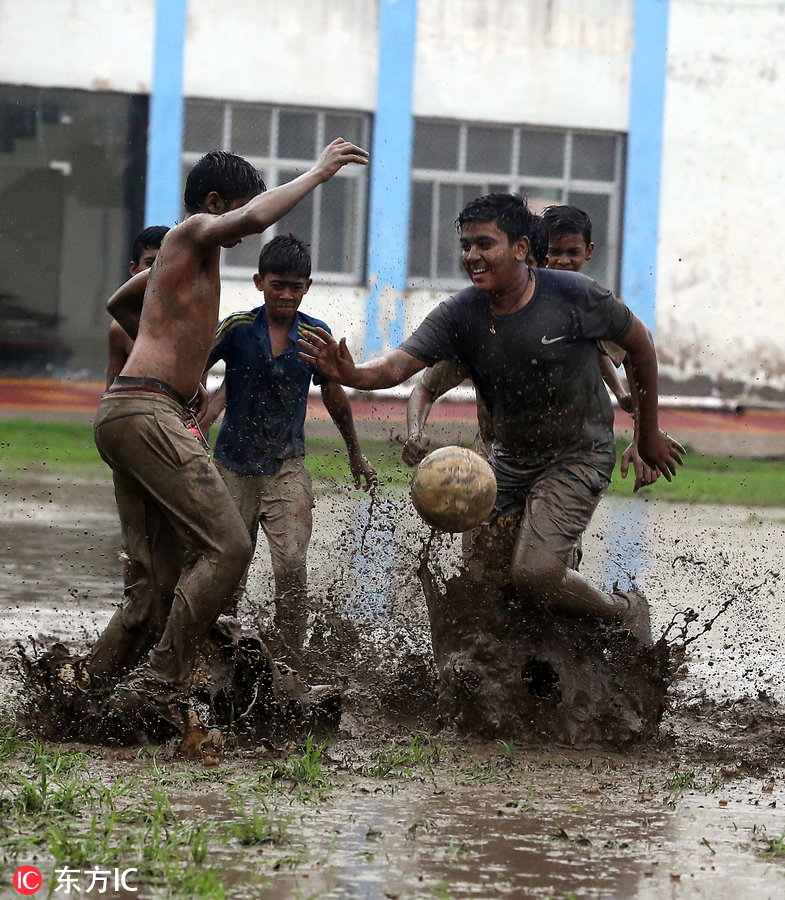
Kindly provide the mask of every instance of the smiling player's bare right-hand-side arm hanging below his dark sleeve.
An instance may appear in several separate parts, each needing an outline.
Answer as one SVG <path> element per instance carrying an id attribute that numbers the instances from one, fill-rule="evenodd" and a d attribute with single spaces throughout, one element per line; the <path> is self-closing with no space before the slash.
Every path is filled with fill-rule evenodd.
<path id="1" fill-rule="evenodd" d="M 616 341 L 627 351 L 633 376 L 638 453 L 643 461 L 670 481 L 682 465 L 684 448 L 660 430 L 657 396 L 657 353 L 649 329 L 637 316 L 627 334 Z"/>

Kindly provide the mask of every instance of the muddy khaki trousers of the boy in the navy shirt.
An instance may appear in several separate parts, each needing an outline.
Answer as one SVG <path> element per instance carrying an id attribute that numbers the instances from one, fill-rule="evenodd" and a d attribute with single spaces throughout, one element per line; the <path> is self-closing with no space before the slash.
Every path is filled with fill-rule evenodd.
<path id="1" fill-rule="evenodd" d="M 306 557 L 313 530 L 313 486 L 301 456 L 285 459 L 272 475 L 240 475 L 217 463 L 254 547 L 261 527 L 275 580 L 276 632 L 299 653 L 308 623 Z M 247 576 L 247 573 L 246 573 Z M 245 577 L 238 596 L 245 589 Z"/>

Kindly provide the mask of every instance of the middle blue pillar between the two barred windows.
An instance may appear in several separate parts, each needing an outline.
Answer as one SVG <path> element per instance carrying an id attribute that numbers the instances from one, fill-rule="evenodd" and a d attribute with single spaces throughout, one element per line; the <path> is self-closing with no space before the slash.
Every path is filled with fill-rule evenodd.
<path id="1" fill-rule="evenodd" d="M 379 74 L 371 147 L 370 294 L 365 357 L 403 339 L 409 247 L 417 0 L 379 0 Z"/>

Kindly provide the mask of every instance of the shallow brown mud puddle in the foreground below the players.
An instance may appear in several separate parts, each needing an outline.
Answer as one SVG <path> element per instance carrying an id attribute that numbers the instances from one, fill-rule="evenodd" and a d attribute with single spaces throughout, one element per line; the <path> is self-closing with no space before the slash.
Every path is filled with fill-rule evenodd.
<path id="1" fill-rule="evenodd" d="M 205 774 L 161 754 L 152 763 L 91 760 L 106 785 L 133 776 L 171 804 L 169 828 L 204 827 L 197 868 L 220 877 L 185 896 L 231 898 L 780 898 L 782 771 L 738 776 L 670 753 L 591 756 L 432 739 L 430 762 L 378 771 L 390 745 L 339 741 L 317 788 L 264 780 L 270 753 L 227 758 Z M 406 745 L 397 745 L 398 751 Z M 409 744 L 411 746 L 411 744 Z M 252 758 L 253 757 L 253 758 Z M 132 809 L 123 801 L 116 811 Z M 256 817 L 256 818 L 254 818 Z M 83 814 L 89 819 L 89 810 Z M 133 820 L 133 817 L 128 817 Z M 249 822 L 266 829 L 248 837 Z M 122 822 L 122 816 L 120 817 Z M 87 822 L 83 822 L 87 829 Z M 132 830 L 119 824 L 115 841 Z M 77 846 L 77 845 L 75 845 Z M 129 844 L 121 866 L 142 866 Z M 38 854 L 45 885 L 58 868 Z M 77 871 L 86 865 L 72 863 Z M 140 871 L 144 869 L 140 868 Z M 155 884 L 158 886 L 154 886 Z M 160 878 L 115 896 L 182 896 Z M 10 896 L 0 888 L 0 896 Z M 54 894 L 57 896 L 57 894 Z M 86 896 L 90 896 L 88 891 Z"/>

